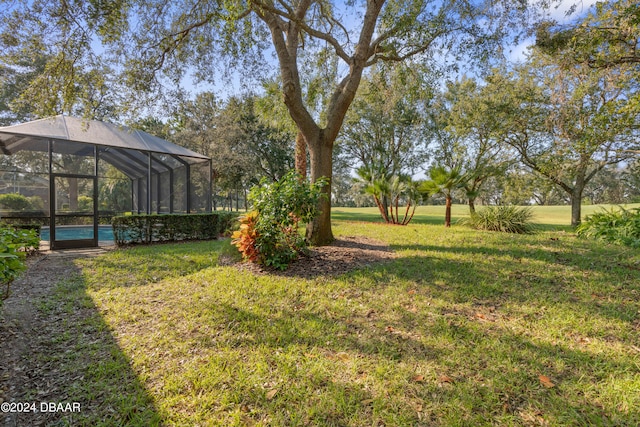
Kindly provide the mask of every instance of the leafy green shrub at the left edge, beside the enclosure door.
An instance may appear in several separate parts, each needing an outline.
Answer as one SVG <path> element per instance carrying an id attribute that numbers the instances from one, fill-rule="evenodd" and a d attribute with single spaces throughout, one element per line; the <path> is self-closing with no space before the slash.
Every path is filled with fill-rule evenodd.
<path id="1" fill-rule="evenodd" d="M 0 226 L 0 284 L 5 285 L 2 299 L 9 296 L 9 286 L 25 270 L 27 252 L 37 250 L 40 237 L 37 230 Z"/>

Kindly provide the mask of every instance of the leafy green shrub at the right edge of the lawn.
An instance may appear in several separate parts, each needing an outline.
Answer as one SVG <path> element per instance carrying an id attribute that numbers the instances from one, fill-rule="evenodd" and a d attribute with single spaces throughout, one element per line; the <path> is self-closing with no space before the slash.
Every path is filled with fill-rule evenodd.
<path id="1" fill-rule="evenodd" d="M 588 215 L 576 232 L 580 237 L 640 248 L 640 208 L 603 209 Z"/>

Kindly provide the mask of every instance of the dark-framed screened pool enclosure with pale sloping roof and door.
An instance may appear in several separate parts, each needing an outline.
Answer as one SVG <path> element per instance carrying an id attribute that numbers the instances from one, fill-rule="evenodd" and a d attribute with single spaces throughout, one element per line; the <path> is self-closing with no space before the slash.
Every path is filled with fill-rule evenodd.
<path id="1" fill-rule="evenodd" d="M 97 246 L 114 215 L 210 210 L 211 161 L 184 147 L 63 115 L 0 127 L 0 219 L 48 228 L 52 249 Z"/>

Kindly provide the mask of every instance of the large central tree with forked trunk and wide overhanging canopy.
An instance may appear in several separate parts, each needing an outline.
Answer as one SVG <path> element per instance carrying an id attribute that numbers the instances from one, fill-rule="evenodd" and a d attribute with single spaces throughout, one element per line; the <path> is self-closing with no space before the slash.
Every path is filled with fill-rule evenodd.
<path id="1" fill-rule="evenodd" d="M 77 87 L 78 70 L 99 69 L 97 40 L 106 54 L 122 61 L 117 68 L 125 72 L 127 87 L 137 99 L 143 91 L 172 88 L 187 71 L 211 82 L 229 65 L 253 77 L 276 66 L 283 101 L 308 144 L 315 181 L 332 176 L 334 141 L 368 67 L 412 57 L 440 60 L 451 53 L 468 62 L 500 52 L 504 37 L 513 28 L 525 27 L 527 4 L 520 0 L 24 0 L 11 1 L 0 12 L 0 43 L 16 50 L 40 43 L 50 50 L 52 59 L 39 81 L 41 90 L 32 95 L 62 94 L 63 104 L 83 95 L 72 90 Z M 36 33 L 41 37 L 34 37 Z M 335 71 L 321 114 L 313 114 L 305 103 L 303 66 Z M 330 185 L 329 181 L 327 194 Z M 330 207 L 325 199 L 322 214 L 307 229 L 316 244 L 333 238 Z"/>

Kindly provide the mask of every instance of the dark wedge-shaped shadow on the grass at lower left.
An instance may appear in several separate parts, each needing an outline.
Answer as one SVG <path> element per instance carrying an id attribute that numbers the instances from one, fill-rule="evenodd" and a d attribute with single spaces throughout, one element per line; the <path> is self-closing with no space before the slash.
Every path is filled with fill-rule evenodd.
<path id="1" fill-rule="evenodd" d="M 40 273 L 38 272 L 40 269 Z M 48 279 L 46 278 L 48 276 Z M 45 283 L 46 282 L 46 283 Z M 56 284 L 57 282 L 57 284 Z M 152 397 L 119 348 L 69 257 L 49 255 L 27 272 L 22 287 L 42 292 L 26 303 L 20 339 L 8 369 L 9 401 L 33 402 L 37 413 L 11 414 L 7 425 L 160 425 Z M 20 293 L 20 289 L 16 289 Z M 42 402 L 73 411 L 40 411 Z M 45 404 L 46 406 L 46 404 Z"/>

